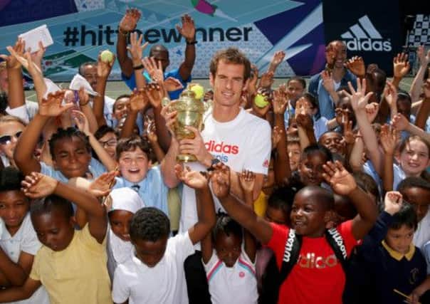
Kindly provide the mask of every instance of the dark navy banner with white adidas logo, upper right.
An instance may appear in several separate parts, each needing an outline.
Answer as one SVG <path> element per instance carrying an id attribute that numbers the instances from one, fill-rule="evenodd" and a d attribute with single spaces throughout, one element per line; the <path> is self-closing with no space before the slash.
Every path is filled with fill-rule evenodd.
<path id="1" fill-rule="evenodd" d="M 354 6 L 354 7 L 352 7 Z M 360 5 L 347 1 L 324 0 L 325 41 L 342 40 L 347 56 L 362 56 L 366 64 L 377 63 L 389 75 L 394 55 L 402 51 L 399 1 L 362 0 Z"/>

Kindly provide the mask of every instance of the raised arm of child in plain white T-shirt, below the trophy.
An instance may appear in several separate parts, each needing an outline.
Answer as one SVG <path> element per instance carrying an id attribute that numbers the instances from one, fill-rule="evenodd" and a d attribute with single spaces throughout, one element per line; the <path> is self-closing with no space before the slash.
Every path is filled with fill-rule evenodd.
<path id="1" fill-rule="evenodd" d="M 177 177 L 184 182 L 184 184 L 196 190 L 196 205 L 199 221 L 188 230 L 188 234 L 193 244 L 199 243 L 199 241 L 210 233 L 216 221 L 214 200 L 212 199 L 208 181 L 201 173 L 191 171 L 189 167 L 183 169 L 180 164 L 177 164 L 174 170 Z M 207 252 L 206 248 L 205 251 Z"/>

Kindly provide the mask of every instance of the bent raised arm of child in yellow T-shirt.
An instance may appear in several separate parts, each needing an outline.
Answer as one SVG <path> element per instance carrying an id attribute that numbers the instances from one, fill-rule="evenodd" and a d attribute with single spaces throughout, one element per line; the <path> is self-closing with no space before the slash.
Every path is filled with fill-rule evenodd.
<path id="1" fill-rule="evenodd" d="M 108 227 L 108 219 L 105 206 L 100 204 L 95 196 L 83 189 L 58 182 L 58 180 L 39 172 L 27 175 L 22 185 L 24 194 L 31 199 L 56 194 L 68 201 L 73 201 L 87 214 L 90 234 L 98 243 L 103 243 Z"/>

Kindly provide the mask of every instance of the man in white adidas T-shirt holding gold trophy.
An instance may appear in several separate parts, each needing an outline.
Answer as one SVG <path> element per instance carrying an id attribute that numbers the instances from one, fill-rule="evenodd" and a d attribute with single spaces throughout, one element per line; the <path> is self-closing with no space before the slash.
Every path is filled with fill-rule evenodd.
<path id="1" fill-rule="evenodd" d="M 266 120 L 246 112 L 240 106 L 241 94 L 247 88 L 250 75 L 251 63 L 237 48 L 227 48 L 214 55 L 209 74 L 211 87 L 214 90 L 213 108 L 204 118 L 204 129 L 199 132 L 196 127 L 186 127 L 194 132 L 194 138 L 181 140 L 172 138 L 164 165 L 173 168 L 177 163 L 178 154 L 193 154 L 197 161 L 187 162 L 187 166 L 195 171 L 206 171 L 211 165 L 223 162 L 231 168 L 231 192 L 241 198 L 243 193 L 238 182 L 238 173 L 243 169 L 251 170 L 256 173 L 253 199 L 258 197 L 270 162 L 271 127 Z M 179 113 L 177 117 L 166 116 L 169 116 L 166 120 L 170 125 L 172 119 L 179 118 Z M 179 180 L 174 170 L 168 171 L 164 176 L 164 182 L 168 187 L 176 187 Z M 216 197 L 214 202 L 216 210 L 224 210 Z M 194 189 L 184 185 L 179 232 L 187 231 L 196 221 Z M 194 267 L 196 261 L 201 266 L 201 255 L 197 253 L 194 258 L 189 261 L 191 266 Z M 187 273 L 187 261 L 185 268 Z M 192 276 L 194 275 L 196 273 Z M 205 278 L 203 279 L 206 281 Z M 189 281 L 189 273 L 187 273 L 187 281 Z M 199 279 L 196 278 L 195 281 L 198 282 Z M 189 290 L 189 296 L 193 298 L 198 294 L 196 290 L 192 292 Z M 190 303 L 194 302 L 192 298 L 189 300 Z"/>

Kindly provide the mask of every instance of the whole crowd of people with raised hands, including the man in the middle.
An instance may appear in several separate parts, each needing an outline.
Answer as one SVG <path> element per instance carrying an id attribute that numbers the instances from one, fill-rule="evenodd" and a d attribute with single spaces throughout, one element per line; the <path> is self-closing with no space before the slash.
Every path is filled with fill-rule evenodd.
<path id="1" fill-rule="evenodd" d="M 115 58 L 69 90 L 43 78 L 43 46 L 1 56 L 0 303 L 430 303 L 430 51 L 407 92 L 404 54 L 389 80 L 332 41 L 307 90 L 272 88 L 283 51 L 258 75 L 219 50 L 204 129 L 179 139 L 169 97 L 191 81 L 194 21 L 167 72 L 164 46 L 142 58 L 139 19 L 119 25 L 133 90 L 115 100 Z"/>

